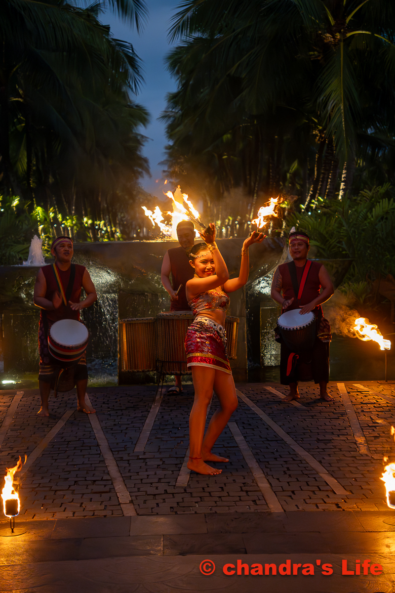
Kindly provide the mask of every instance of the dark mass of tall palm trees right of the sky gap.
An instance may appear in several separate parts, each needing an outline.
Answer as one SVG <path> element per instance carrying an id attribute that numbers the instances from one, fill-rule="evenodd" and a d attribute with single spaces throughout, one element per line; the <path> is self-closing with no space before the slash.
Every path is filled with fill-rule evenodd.
<path id="1" fill-rule="evenodd" d="M 190 192 L 300 203 L 394 181 L 393 0 L 184 0 L 163 113 Z M 357 170 L 356 170 L 357 167 Z"/>

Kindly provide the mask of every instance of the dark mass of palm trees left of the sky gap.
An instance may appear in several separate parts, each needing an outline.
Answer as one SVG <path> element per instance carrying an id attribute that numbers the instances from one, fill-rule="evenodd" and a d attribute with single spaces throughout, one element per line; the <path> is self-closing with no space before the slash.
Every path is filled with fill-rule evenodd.
<path id="1" fill-rule="evenodd" d="M 143 0 L 108 4 L 141 28 Z M 77 217 L 116 228 L 147 171 L 138 131 L 147 112 L 133 99 L 139 58 L 100 23 L 103 8 L 0 4 L 0 189 L 56 212 L 60 224 Z"/>

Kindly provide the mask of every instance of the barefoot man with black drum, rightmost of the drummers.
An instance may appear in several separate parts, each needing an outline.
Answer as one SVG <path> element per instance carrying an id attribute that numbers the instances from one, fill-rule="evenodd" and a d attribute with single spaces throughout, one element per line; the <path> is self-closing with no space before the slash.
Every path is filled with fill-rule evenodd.
<path id="1" fill-rule="evenodd" d="M 282 313 L 300 309 L 303 317 L 312 311 L 316 317 L 317 334 L 321 334 L 327 342 L 316 335 L 313 349 L 309 352 L 292 352 L 281 340 L 280 378 L 282 385 L 290 386 L 290 393 L 283 401 L 298 400 L 298 378 L 303 378 L 304 368 L 310 368 L 314 383 L 320 385 L 320 397 L 332 401 L 327 393 L 329 381 L 329 332 L 320 328 L 323 318 L 321 304 L 333 295 L 333 284 L 325 267 L 319 262 L 307 260 L 310 249 L 309 235 L 305 232 L 293 231 L 289 236 L 289 248 L 292 262 L 278 266 L 274 273 L 271 297 L 282 305 Z M 282 295 L 281 295 L 282 291 Z"/>

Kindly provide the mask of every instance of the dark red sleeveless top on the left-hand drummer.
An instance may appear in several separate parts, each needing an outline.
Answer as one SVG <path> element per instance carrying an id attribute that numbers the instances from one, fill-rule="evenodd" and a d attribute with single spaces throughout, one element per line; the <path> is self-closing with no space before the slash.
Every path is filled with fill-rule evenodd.
<path id="1" fill-rule="evenodd" d="M 70 301 L 71 302 L 79 302 L 79 299 L 81 297 L 82 277 L 84 276 L 85 266 L 79 266 L 79 264 L 74 264 L 74 265 L 75 265 L 75 278 L 74 278 L 73 288 L 72 288 L 71 295 L 70 295 Z M 57 267 L 57 273 L 59 274 L 59 278 L 63 284 L 63 290 L 65 292 L 66 292 L 68 284 L 69 284 L 70 269 L 71 269 L 71 266 L 69 267 L 68 270 L 66 270 L 66 272 L 63 272 L 63 270 L 60 270 L 59 267 Z M 59 292 L 59 289 L 57 288 L 56 278 L 53 273 L 52 264 L 50 264 L 49 266 L 43 266 L 41 268 L 41 270 L 43 270 L 43 274 L 44 274 L 44 277 L 45 277 L 45 280 L 47 283 L 47 292 L 45 294 L 45 298 L 49 299 L 49 301 L 52 301 L 53 293 L 55 291 Z M 59 309 L 55 309 L 53 311 L 46 311 L 46 314 L 47 314 L 47 318 L 51 321 L 60 321 L 61 319 L 75 319 L 76 321 L 79 321 L 79 311 L 73 311 L 69 304 L 66 307 L 66 305 L 63 303 L 63 301 L 62 301 L 62 304 L 60 305 Z M 43 317 L 43 309 L 41 309 L 40 315 L 42 318 Z"/>

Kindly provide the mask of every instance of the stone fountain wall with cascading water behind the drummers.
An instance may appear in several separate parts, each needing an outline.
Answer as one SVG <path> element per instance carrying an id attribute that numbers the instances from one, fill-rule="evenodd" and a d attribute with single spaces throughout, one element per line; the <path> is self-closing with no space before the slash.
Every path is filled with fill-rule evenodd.
<path id="1" fill-rule="evenodd" d="M 218 241 L 229 272 L 235 276 L 240 266 L 243 239 Z M 91 342 L 87 360 L 92 384 L 117 382 L 118 314 L 124 317 L 154 316 L 169 308 L 169 298 L 160 282 L 165 251 L 174 241 L 125 241 L 75 244 L 73 261 L 86 266 L 98 292 L 98 302 L 82 311 Z M 4 380 L 28 377 L 34 387 L 37 377 L 37 326 L 39 311 L 33 304 L 34 279 L 42 260 L 35 257 L 25 266 L 0 266 L 0 345 L 4 353 Z M 251 280 L 275 269 L 285 257 L 282 239 L 266 239 L 251 248 Z M 50 263 L 51 260 L 49 260 Z M 34 262 L 37 265 L 31 265 Z M 45 262 L 43 262 L 45 263 Z M 240 318 L 239 350 L 233 372 L 247 378 L 245 291 L 232 296 L 231 315 Z M 31 384 L 33 381 L 33 384 Z M 8 385 L 8 384 L 6 384 Z M 9 388 L 9 387 L 8 387 Z"/>

